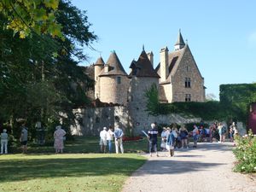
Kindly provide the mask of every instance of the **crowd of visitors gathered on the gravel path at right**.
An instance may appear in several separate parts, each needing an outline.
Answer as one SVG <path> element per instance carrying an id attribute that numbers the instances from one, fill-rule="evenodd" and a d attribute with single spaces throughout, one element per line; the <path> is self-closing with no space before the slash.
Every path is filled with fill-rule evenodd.
<path id="1" fill-rule="evenodd" d="M 148 131 L 149 141 L 149 154 L 152 156 L 152 152 L 157 152 L 157 136 L 159 131 L 156 127 L 156 123 L 151 124 L 151 130 Z M 189 148 L 189 137 L 193 139 L 193 148 L 197 148 L 198 142 L 218 142 L 224 143 L 226 135 L 229 134 L 230 142 L 234 142 L 234 137 L 238 135 L 235 122 L 230 125 L 229 129 L 222 123 L 213 123 L 209 128 L 204 125 L 193 126 L 193 131 L 188 131 L 184 125 L 177 130 L 176 125 L 171 127 L 163 127 L 160 133 L 160 150 L 168 151 L 169 156 L 174 155 L 175 148 Z"/>

